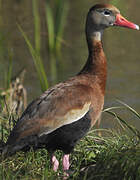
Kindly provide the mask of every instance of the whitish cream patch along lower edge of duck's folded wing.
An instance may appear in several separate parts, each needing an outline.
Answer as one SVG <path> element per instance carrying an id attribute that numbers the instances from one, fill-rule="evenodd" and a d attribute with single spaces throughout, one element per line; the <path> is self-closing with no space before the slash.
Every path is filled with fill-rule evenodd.
<path id="1" fill-rule="evenodd" d="M 46 127 L 47 130 L 41 132 L 39 136 L 49 134 L 64 125 L 78 121 L 79 119 L 81 119 L 86 115 L 86 113 L 89 111 L 90 105 L 91 105 L 90 102 L 85 103 L 82 109 L 72 109 L 69 112 L 67 112 L 67 114 L 65 114 L 63 117 L 57 117 L 56 120 L 54 121 L 54 126 L 52 128 Z"/>

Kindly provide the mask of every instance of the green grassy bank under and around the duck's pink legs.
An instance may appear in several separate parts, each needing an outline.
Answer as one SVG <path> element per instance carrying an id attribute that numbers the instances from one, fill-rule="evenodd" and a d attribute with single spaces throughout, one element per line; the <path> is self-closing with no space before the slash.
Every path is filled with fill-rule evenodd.
<path id="1" fill-rule="evenodd" d="M 140 120 L 139 114 L 134 109 L 124 103 L 123 105 Z M 119 121 L 122 132 L 120 133 L 120 130 L 100 129 L 102 136 L 98 136 L 99 130 L 92 129 L 71 154 L 69 179 L 140 179 L 140 132 L 114 113 L 115 108 L 106 109 L 104 113 L 107 112 L 111 115 L 113 113 L 113 116 Z M 8 119 L 14 118 L 14 115 L 9 113 L 3 117 L 1 112 L 0 121 L 3 128 L 1 126 L 0 131 L 3 134 L 3 140 L 6 140 L 9 129 L 12 127 L 12 124 L 9 125 Z M 62 152 L 57 151 L 56 156 L 61 161 Z M 2 161 L 0 177 L 6 180 L 62 179 L 63 170 L 60 164 L 57 173 L 52 171 L 50 157 L 45 149 L 36 152 L 30 150 L 27 153 L 18 152 Z"/>

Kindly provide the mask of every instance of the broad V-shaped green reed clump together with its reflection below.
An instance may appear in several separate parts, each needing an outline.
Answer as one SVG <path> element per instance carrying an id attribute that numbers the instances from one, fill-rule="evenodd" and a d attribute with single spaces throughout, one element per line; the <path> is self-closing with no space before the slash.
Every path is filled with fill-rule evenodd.
<path id="1" fill-rule="evenodd" d="M 60 61 L 61 47 L 68 12 L 68 0 L 55 0 L 53 5 L 54 8 L 51 7 L 51 1 L 46 0 L 48 52 L 52 81 L 55 83 L 57 81 L 57 64 L 62 64 L 62 61 Z"/>

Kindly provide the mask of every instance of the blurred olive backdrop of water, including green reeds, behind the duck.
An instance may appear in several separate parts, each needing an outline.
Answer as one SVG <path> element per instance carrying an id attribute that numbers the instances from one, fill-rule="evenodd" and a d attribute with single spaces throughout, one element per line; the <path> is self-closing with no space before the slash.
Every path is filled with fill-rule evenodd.
<path id="1" fill-rule="evenodd" d="M 96 3 L 117 6 L 128 20 L 140 25 L 139 0 L 0 0 L 0 91 L 24 71 L 27 102 L 45 89 L 79 72 L 88 56 L 85 20 Z M 108 80 L 104 108 L 122 106 L 121 100 L 140 110 L 140 32 L 110 28 L 104 32 Z M 130 124 L 137 117 L 117 110 Z M 101 127 L 115 128 L 103 113 Z"/>

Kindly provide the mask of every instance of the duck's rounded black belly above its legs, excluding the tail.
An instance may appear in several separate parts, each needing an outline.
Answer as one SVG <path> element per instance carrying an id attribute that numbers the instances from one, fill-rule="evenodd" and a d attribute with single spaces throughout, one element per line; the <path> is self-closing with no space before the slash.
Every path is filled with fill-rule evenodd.
<path id="1" fill-rule="evenodd" d="M 42 136 L 48 151 L 54 152 L 59 149 L 69 154 L 78 140 L 80 140 L 90 129 L 91 120 L 87 113 L 82 119 L 71 124 L 62 126 L 48 135 Z M 41 139 L 40 139 L 41 141 Z"/>

